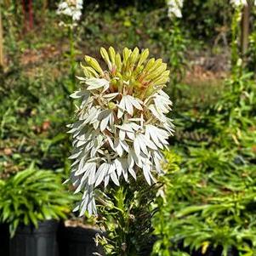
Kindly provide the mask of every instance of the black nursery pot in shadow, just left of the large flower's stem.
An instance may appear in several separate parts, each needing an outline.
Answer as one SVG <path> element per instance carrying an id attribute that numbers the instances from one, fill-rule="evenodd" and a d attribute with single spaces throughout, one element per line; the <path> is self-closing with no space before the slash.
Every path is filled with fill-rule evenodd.
<path id="1" fill-rule="evenodd" d="M 97 247 L 94 238 L 100 230 L 80 226 L 60 225 L 58 244 L 60 256 L 92 256 L 94 253 L 104 255 L 102 247 Z"/>

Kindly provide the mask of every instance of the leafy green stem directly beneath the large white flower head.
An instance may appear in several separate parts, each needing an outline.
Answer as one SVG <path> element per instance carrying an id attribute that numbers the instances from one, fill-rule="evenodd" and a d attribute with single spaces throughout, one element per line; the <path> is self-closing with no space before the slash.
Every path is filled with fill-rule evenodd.
<path id="1" fill-rule="evenodd" d="M 149 190 L 144 177 L 100 192 L 99 223 L 106 230 L 98 242 L 106 255 L 148 255 L 151 251 L 151 202 L 157 185 Z"/>

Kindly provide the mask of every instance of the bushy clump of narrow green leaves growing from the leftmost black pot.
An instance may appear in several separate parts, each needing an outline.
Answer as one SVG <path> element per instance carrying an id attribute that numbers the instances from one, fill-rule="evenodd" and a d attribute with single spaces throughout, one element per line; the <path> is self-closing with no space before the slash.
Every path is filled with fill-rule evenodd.
<path id="1" fill-rule="evenodd" d="M 9 224 L 10 234 L 18 225 L 35 225 L 45 219 L 65 219 L 73 198 L 52 171 L 30 168 L 0 185 L 0 220 Z"/>

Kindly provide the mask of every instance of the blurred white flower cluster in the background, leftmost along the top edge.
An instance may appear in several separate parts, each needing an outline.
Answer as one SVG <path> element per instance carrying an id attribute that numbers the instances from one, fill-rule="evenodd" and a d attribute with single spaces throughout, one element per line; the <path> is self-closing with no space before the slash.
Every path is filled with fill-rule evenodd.
<path id="1" fill-rule="evenodd" d="M 70 16 L 73 22 L 80 20 L 82 15 L 82 0 L 65 0 L 60 2 L 57 14 Z"/>

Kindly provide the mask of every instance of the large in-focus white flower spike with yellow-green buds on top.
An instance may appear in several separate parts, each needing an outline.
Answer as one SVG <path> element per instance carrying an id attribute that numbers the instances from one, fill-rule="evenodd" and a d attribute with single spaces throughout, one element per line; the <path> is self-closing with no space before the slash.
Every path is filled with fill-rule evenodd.
<path id="1" fill-rule="evenodd" d="M 143 174 L 149 185 L 162 174 L 161 150 L 173 134 L 166 117 L 172 102 L 162 91 L 169 71 L 162 60 L 148 60 L 145 49 L 100 49 L 107 70 L 85 56 L 85 77 L 71 97 L 80 99 L 77 122 L 69 125 L 73 138 L 71 182 L 83 192 L 75 210 L 96 214 L 94 191 L 110 182 L 120 185 Z"/>

